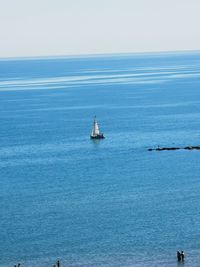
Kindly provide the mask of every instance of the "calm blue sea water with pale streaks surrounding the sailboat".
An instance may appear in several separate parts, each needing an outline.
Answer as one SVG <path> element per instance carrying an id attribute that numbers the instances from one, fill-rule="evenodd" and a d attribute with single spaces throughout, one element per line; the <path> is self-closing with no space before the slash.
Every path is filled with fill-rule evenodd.
<path id="1" fill-rule="evenodd" d="M 199 266 L 200 151 L 158 145 L 200 145 L 200 53 L 1 60 L 0 266 Z"/>

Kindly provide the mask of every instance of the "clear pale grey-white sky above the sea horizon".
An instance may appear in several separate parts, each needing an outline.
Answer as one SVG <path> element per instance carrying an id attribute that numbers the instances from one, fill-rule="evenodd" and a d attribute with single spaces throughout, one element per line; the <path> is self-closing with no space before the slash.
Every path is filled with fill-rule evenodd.
<path id="1" fill-rule="evenodd" d="M 200 0 L 0 0 L 0 57 L 200 50 Z"/>

